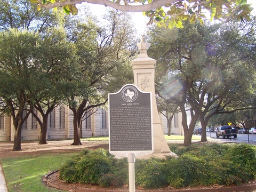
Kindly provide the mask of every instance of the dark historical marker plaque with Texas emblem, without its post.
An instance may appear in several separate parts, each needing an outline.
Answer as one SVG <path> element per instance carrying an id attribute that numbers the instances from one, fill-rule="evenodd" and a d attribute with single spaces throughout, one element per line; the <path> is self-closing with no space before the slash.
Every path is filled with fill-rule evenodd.
<path id="1" fill-rule="evenodd" d="M 127 157 L 153 153 L 153 118 L 151 93 L 127 84 L 109 99 L 109 151 Z"/>

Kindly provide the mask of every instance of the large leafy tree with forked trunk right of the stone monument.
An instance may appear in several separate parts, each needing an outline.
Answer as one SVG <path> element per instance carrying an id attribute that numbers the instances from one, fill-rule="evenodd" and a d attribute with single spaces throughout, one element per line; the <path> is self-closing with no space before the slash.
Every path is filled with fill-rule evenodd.
<path id="1" fill-rule="evenodd" d="M 191 143 L 198 118 L 205 131 L 209 118 L 223 109 L 255 107 L 250 99 L 255 97 L 254 25 L 254 19 L 216 25 L 186 21 L 183 29 L 151 30 L 148 54 L 161 70 L 158 93 L 179 105 L 185 145 Z"/>

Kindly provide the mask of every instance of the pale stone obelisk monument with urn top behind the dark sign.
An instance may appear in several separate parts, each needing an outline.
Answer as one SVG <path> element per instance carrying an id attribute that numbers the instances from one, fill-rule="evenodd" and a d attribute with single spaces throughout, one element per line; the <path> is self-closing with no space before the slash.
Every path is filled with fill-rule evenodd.
<path id="1" fill-rule="evenodd" d="M 153 107 L 153 137 L 154 137 L 154 152 L 152 155 L 157 157 L 164 157 L 165 155 L 174 155 L 164 138 L 164 133 L 158 110 L 156 106 L 155 97 L 155 67 L 156 60 L 149 58 L 147 50 L 150 43 L 146 42 L 146 36 L 142 35 L 141 42 L 137 44 L 140 54 L 137 59 L 131 61 L 134 75 L 134 84 L 139 87 L 141 91 L 152 92 L 152 107 Z"/>

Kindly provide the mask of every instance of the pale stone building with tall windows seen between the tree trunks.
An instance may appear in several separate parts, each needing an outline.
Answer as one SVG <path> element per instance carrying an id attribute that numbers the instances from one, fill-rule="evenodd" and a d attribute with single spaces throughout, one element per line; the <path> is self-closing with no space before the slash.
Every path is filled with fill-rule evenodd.
<path id="1" fill-rule="evenodd" d="M 105 109 L 98 109 L 92 114 L 86 114 L 82 123 L 82 137 L 92 136 L 108 136 L 108 111 Z M 0 116 L 0 141 L 14 140 L 14 126 L 10 116 Z M 163 115 L 161 117 L 161 124 L 164 134 L 168 133 L 167 121 Z M 183 135 L 181 127 L 181 115 L 175 114 L 172 125 L 171 134 Z M 59 106 L 55 108 L 49 115 L 47 127 L 47 139 L 73 139 L 73 114 L 66 106 Z M 30 115 L 22 126 L 21 140 L 38 140 L 40 135 L 40 126 L 36 119 Z"/>

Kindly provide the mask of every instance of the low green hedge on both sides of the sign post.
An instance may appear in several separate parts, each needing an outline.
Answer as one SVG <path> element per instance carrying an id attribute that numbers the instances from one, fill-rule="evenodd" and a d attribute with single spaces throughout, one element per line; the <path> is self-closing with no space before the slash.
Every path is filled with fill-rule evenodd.
<path id="1" fill-rule="evenodd" d="M 178 157 L 136 159 L 135 183 L 143 188 L 239 185 L 255 179 L 256 147 L 246 144 L 171 145 Z M 84 150 L 60 169 L 60 179 L 102 187 L 128 185 L 127 158 L 104 149 Z"/>

